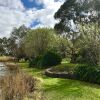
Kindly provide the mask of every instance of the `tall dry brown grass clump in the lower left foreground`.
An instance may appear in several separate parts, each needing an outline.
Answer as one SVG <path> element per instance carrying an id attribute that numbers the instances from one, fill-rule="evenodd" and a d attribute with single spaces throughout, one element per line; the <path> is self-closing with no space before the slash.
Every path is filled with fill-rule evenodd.
<path id="1" fill-rule="evenodd" d="M 40 80 L 22 72 L 16 75 L 9 74 L 2 80 L 1 99 L 2 100 L 24 100 L 29 93 L 34 93 L 38 89 Z"/>

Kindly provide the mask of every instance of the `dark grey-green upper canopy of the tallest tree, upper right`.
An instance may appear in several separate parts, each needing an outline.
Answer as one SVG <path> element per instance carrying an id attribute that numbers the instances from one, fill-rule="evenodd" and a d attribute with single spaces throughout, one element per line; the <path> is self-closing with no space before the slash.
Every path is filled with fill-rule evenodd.
<path id="1" fill-rule="evenodd" d="M 55 19 L 60 19 L 59 23 L 55 25 L 55 29 L 59 32 L 76 32 L 75 28 L 71 26 L 71 20 L 75 25 L 95 23 L 97 20 L 99 22 L 99 5 L 99 0 L 66 0 L 55 13 Z"/>

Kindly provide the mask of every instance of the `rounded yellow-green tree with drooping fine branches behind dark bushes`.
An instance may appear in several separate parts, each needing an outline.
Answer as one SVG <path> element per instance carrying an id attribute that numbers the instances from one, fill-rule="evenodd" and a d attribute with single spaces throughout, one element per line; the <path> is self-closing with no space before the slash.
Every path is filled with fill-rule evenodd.
<path id="1" fill-rule="evenodd" d="M 42 55 L 46 50 L 52 48 L 55 40 L 52 29 L 40 28 L 28 31 L 24 38 L 25 52 L 29 57 Z"/>

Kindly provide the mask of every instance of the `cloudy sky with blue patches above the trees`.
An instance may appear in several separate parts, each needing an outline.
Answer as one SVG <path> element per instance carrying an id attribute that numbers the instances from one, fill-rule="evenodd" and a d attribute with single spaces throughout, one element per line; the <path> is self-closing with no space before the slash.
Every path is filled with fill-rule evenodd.
<path id="1" fill-rule="evenodd" d="M 65 0 L 0 0 L 0 38 L 14 27 L 54 27 L 54 13 Z"/>

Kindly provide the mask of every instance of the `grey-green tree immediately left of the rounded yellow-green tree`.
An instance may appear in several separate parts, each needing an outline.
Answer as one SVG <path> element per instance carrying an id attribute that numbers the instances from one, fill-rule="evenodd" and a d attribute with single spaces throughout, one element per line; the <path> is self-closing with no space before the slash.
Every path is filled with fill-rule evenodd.
<path id="1" fill-rule="evenodd" d="M 9 38 L 9 49 L 13 56 L 18 59 L 26 57 L 24 52 L 24 37 L 29 29 L 24 25 L 14 28 Z"/>

